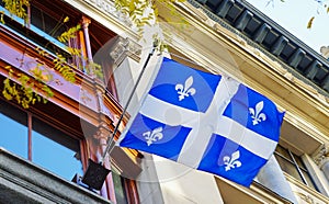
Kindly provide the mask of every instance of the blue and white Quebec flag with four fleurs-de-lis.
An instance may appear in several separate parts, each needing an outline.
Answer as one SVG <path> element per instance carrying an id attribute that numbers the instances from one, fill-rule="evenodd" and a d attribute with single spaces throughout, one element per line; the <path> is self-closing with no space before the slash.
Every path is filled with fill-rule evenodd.
<path id="1" fill-rule="evenodd" d="M 236 80 L 163 58 L 117 145 L 249 186 L 273 154 L 284 113 Z"/>

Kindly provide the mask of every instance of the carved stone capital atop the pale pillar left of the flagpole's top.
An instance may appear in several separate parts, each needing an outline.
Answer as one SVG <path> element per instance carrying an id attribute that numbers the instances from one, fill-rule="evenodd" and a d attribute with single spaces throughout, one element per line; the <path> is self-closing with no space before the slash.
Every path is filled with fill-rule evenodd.
<path id="1" fill-rule="evenodd" d="M 118 37 L 110 49 L 110 56 L 114 60 L 115 65 L 118 66 L 126 57 L 139 63 L 141 54 L 141 46 L 132 39 Z"/>

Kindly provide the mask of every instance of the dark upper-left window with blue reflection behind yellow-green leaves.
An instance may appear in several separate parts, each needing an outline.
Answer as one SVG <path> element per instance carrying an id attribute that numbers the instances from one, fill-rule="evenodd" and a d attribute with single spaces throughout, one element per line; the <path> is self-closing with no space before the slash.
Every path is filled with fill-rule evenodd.
<path id="1" fill-rule="evenodd" d="M 68 55 L 66 45 L 57 41 L 63 32 L 68 27 L 77 25 L 81 15 L 73 12 L 68 5 L 60 2 L 48 0 L 31 1 L 27 10 L 27 24 L 23 19 L 12 15 L 4 9 L 4 3 L 0 0 L 0 11 L 4 12 L 4 22 L 2 26 L 10 27 L 15 34 L 27 37 L 39 47 L 56 54 Z M 64 9 L 65 8 L 65 9 Z M 64 23 L 64 19 L 69 16 L 69 21 Z"/>

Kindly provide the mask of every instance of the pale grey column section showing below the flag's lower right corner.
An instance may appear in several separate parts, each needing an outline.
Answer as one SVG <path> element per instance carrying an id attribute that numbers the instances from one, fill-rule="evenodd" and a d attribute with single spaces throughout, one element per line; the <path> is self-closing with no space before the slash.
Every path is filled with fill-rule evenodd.
<path id="1" fill-rule="evenodd" d="M 272 155 L 266 165 L 260 170 L 257 179 L 265 188 L 272 190 L 282 197 L 291 201 L 292 203 L 298 203 L 288 182 L 285 180 L 274 155 Z"/>

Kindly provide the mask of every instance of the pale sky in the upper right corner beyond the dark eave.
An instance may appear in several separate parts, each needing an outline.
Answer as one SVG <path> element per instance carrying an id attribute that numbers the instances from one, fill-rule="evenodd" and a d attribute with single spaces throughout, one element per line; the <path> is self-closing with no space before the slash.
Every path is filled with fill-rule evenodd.
<path id="1" fill-rule="evenodd" d="M 329 46 L 329 13 L 318 1 L 329 0 L 247 0 L 270 16 L 290 33 L 320 53 L 321 46 Z M 307 23 L 315 16 L 311 29 Z"/>

